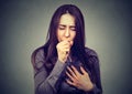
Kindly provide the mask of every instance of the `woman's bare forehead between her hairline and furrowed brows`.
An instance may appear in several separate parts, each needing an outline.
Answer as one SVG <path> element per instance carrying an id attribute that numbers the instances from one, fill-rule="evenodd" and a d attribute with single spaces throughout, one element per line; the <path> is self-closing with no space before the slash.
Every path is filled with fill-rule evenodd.
<path id="1" fill-rule="evenodd" d="M 61 17 L 59 24 L 75 25 L 75 18 L 69 13 L 65 13 Z"/>

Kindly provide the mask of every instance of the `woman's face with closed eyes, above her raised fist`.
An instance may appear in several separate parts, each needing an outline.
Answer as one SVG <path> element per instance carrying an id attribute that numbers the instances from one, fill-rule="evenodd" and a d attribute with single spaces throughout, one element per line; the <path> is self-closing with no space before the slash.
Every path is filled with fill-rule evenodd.
<path id="1" fill-rule="evenodd" d="M 75 36 L 76 36 L 75 18 L 69 13 L 65 13 L 61 17 L 57 28 L 58 42 L 61 41 L 74 42 Z"/>

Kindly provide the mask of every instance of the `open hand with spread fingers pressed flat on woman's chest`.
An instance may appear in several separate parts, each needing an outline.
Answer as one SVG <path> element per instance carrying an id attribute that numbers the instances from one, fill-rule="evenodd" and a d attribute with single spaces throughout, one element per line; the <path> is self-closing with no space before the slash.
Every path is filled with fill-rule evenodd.
<path id="1" fill-rule="evenodd" d="M 69 72 L 66 72 L 69 80 L 66 80 L 68 84 L 84 90 L 84 91 L 90 91 L 94 88 L 94 84 L 90 81 L 89 74 L 84 70 L 82 66 L 80 66 L 81 73 L 79 73 L 75 66 L 72 65 L 72 67 L 67 67 Z"/>

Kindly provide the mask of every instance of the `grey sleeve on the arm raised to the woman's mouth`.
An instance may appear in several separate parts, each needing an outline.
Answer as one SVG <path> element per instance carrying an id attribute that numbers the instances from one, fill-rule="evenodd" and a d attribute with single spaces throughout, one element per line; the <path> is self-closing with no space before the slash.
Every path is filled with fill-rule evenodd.
<path id="1" fill-rule="evenodd" d="M 43 53 L 43 50 L 38 51 L 34 60 L 34 65 L 37 69 L 34 69 L 35 94 L 56 94 L 55 84 L 65 64 L 57 60 L 53 71 L 48 74 L 43 65 L 45 63 Z"/>

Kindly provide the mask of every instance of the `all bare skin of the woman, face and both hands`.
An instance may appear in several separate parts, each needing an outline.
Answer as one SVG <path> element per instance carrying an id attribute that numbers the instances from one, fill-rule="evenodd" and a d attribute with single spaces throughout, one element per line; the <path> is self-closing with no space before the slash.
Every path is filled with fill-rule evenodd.
<path id="1" fill-rule="evenodd" d="M 67 56 L 70 53 L 70 48 L 74 44 L 74 39 L 76 36 L 75 29 L 75 18 L 69 13 L 65 13 L 61 17 L 58 29 L 57 29 L 57 39 L 58 44 L 56 45 L 58 60 L 63 63 L 66 62 Z M 80 66 L 80 74 L 75 66 L 68 66 L 68 75 L 69 80 L 66 82 L 77 88 L 84 91 L 90 91 L 94 88 L 94 84 L 90 81 L 89 74 L 85 71 L 82 66 Z M 86 83 L 87 82 L 87 83 Z"/>

